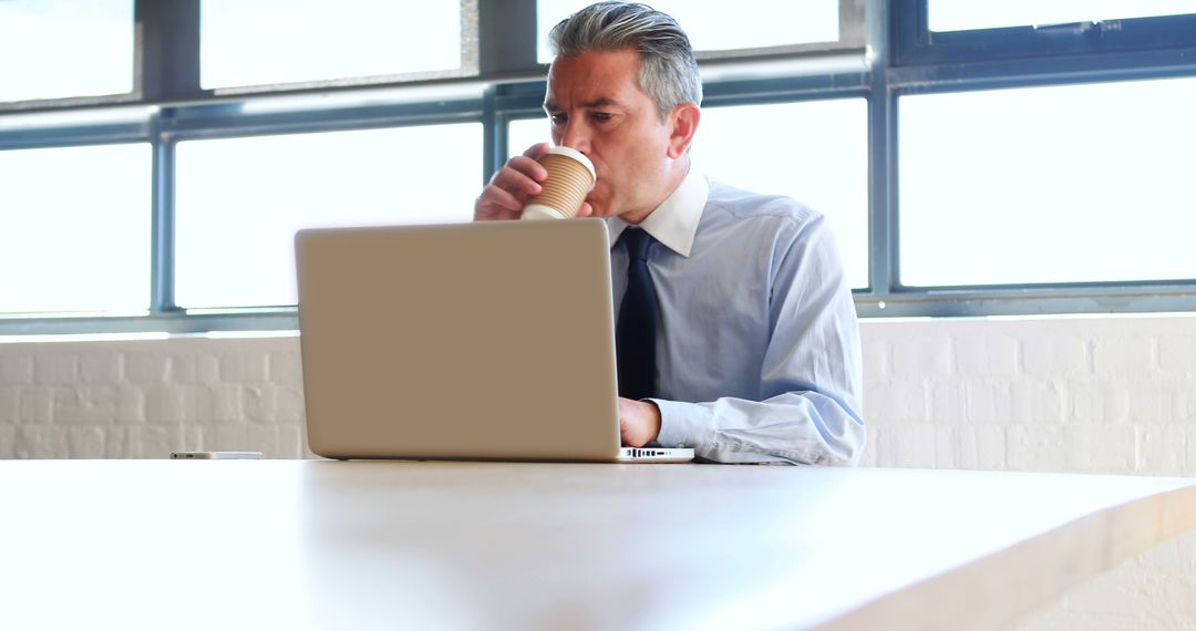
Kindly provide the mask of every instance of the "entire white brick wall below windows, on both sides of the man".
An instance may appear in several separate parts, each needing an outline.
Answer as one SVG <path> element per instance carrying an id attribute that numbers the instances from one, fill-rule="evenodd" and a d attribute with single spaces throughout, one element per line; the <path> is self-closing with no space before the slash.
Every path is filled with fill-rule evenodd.
<path id="1" fill-rule="evenodd" d="M 1196 317 L 861 329 L 865 466 L 1194 474 Z M 0 458 L 301 458 L 303 417 L 294 337 L 0 343 Z M 1196 533 L 1021 629 L 1196 629 Z"/>

